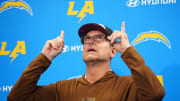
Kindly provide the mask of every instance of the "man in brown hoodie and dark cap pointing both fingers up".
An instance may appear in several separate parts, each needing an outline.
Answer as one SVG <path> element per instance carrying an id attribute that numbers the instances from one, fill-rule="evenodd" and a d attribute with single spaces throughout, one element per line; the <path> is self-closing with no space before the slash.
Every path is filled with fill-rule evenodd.
<path id="1" fill-rule="evenodd" d="M 25 69 L 14 85 L 9 101 L 160 101 L 164 88 L 145 65 L 144 59 L 130 46 L 125 23 L 121 31 L 107 26 L 89 23 L 79 29 L 83 47 L 86 74 L 78 79 L 58 81 L 49 86 L 37 86 L 40 75 L 51 60 L 64 47 L 64 31 L 56 39 L 45 44 L 42 53 Z M 117 41 L 117 39 L 120 39 Z M 132 76 L 115 74 L 111 59 L 117 52 L 130 68 Z"/>

